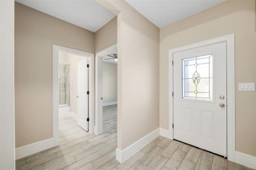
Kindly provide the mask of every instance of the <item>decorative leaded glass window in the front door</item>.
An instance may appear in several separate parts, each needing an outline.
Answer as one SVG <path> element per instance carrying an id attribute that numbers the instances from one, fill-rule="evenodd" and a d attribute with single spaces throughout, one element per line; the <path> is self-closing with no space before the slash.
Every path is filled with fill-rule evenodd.
<path id="1" fill-rule="evenodd" d="M 213 100 L 213 54 L 182 59 L 182 98 Z"/>

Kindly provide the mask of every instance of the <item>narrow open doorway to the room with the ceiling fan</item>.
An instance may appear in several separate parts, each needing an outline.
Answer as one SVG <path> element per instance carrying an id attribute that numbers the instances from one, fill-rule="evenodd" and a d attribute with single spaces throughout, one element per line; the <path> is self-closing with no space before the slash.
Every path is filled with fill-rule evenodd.
<path id="1" fill-rule="evenodd" d="M 94 133 L 97 135 L 104 133 L 104 120 L 110 118 L 113 121 L 113 118 L 116 119 L 117 117 L 117 115 L 113 115 L 114 113 L 117 114 L 117 63 L 117 44 L 96 54 Z M 113 114 L 105 115 L 104 118 L 103 112 Z M 116 130 L 116 125 L 113 126 Z"/>

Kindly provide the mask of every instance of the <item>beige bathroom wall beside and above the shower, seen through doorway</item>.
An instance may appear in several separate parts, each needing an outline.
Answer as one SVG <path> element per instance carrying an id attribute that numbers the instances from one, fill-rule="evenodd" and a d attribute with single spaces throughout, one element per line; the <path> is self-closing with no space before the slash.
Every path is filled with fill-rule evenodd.
<path id="1" fill-rule="evenodd" d="M 85 57 L 59 53 L 59 63 L 69 64 L 69 111 L 77 114 L 77 62 Z"/>

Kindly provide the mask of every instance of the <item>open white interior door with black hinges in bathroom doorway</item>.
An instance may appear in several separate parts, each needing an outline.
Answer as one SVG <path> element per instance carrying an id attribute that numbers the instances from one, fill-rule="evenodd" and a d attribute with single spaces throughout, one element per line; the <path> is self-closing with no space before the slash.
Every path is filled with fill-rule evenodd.
<path id="1" fill-rule="evenodd" d="M 88 94 L 89 76 L 88 59 L 77 62 L 77 124 L 88 131 Z"/>

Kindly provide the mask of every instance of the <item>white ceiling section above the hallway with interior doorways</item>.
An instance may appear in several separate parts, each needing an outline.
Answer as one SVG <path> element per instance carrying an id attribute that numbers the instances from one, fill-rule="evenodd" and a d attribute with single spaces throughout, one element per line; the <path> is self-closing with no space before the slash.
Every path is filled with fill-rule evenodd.
<path id="1" fill-rule="evenodd" d="M 93 0 L 16 0 L 46 14 L 96 32 L 115 14 Z"/>

